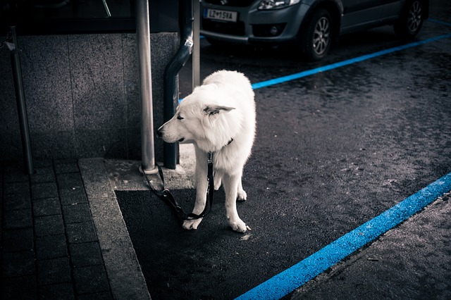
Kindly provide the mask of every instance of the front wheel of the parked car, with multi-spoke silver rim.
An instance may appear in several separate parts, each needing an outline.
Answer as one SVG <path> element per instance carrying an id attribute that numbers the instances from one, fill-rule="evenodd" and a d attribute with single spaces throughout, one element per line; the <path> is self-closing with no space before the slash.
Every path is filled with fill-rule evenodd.
<path id="1" fill-rule="evenodd" d="M 324 58 L 333 41 L 333 24 L 330 13 L 319 8 L 308 19 L 301 35 L 301 47 L 308 61 L 319 61 Z"/>

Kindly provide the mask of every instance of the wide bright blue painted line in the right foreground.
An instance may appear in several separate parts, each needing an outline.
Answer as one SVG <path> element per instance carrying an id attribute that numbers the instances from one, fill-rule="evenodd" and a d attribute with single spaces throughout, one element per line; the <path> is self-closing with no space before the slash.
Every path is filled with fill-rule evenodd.
<path id="1" fill-rule="evenodd" d="M 242 294 L 237 299 L 280 299 L 286 296 L 450 191 L 451 173 L 336 239 L 291 268 Z"/>

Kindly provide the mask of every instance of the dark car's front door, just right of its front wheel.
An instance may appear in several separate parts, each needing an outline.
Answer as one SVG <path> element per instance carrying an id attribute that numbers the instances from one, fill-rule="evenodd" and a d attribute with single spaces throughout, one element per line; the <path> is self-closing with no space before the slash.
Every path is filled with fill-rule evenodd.
<path id="1" fill-rule="evenodd" d="M 351 32 L 379 23 L 386 0 L 343 0 L 341 32 Z"/>

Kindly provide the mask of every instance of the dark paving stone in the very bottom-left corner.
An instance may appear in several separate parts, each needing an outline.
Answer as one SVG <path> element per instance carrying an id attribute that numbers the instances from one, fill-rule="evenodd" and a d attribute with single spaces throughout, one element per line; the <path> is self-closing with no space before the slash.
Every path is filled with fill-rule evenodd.
<path id="1" fill-rule="evenodd" d="M 1 286 L 1 299 L 37 299 L 35 275 L 3 278 Z"/>

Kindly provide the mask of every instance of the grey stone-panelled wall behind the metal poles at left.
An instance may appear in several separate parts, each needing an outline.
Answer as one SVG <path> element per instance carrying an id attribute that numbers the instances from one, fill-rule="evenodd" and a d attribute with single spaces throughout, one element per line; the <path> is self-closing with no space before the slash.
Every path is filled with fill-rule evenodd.
<path id="1" fill-rule="evenodd" d="M 163 73 L 176 32 L 152 33 L 154 124 L 163 122 Z M 3 41 L 4 37 L 0 37 Z M 140 159 L 134 33 L 18 37 L 33 158 Z M 0 161 L 22 158 L 10 51 L 0 49 Z M 155 141 L 156 160 L 163 146 Z"/>

